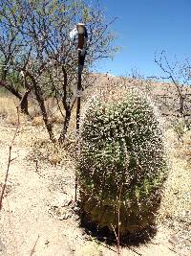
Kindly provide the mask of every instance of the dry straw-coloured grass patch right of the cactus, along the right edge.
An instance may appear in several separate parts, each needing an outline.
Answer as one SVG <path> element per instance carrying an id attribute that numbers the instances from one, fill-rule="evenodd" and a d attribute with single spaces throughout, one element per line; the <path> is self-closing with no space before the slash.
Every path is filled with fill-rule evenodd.
<path id="1" fill-rule="evenodd" d="M 189 221 L 191 218 L 191 163 L 187 161 L 191 151 L 190 135 L 191 132 L 184 138 L 184 144 L 179 145 L 175 132 L 168 130 L 171 170 L 164 184 L 159 221 L 173 219 Z"/>

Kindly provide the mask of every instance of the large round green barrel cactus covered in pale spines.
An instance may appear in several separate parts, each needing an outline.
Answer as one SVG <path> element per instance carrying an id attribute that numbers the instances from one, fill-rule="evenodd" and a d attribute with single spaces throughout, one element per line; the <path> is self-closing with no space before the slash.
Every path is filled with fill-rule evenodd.
<path id="1" fill-rule="evenodd" d="M 81 124 L 81 208 L 99 227 L 135 233 L 153 225 L 166 176 L 163 131 L 137 88 L 93 98 Z"/>

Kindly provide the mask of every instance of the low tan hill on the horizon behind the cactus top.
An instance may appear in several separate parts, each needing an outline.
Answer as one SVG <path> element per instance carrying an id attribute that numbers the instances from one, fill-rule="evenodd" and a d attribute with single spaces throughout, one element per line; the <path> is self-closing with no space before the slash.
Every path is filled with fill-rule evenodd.
<path id="1" fill-rule="evenodd" d="M 111 84 L 137 86 L 153 98 L 162 115 L 165 116 L 179 115 L 181 95 L 183 98 L 184 115 L 187 118 L 191 118 L 191 86 L 182 86 L 179 91 L 176 85 L 170 82 L 115 77 L 111 74 L 101 73 L 91 74 L 86 82 L 88 88 L 84 92 L 84 100 L 91 97 L 97 88 L 106 88 L 107 90 Z"/>

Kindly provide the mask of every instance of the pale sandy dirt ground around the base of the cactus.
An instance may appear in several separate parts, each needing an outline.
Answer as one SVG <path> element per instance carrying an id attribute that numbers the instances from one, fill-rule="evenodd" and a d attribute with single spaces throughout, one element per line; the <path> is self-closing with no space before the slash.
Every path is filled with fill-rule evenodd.
<path id="1" fill-rule="evenodd" d="M 8 165 L 15 126 L 0 121 L 0 184 Z M 42 127 L 21 125 L 11 152 L 11 169 L 0 212 L 0 255 L 4 256 L 101 256 L 117 255 L 117 246 L 90 236 L 76 214 L 74 161 L 62 164 L 36 161 L 29 155 L 34 142 L 48 140 Z M 181 240 L 175 229 L 159 224 L 145 244 L 126 245 L 121 255 L 190 255 L 191 240 Z M 181 232 L 182 235 L 182 232 Z"/>

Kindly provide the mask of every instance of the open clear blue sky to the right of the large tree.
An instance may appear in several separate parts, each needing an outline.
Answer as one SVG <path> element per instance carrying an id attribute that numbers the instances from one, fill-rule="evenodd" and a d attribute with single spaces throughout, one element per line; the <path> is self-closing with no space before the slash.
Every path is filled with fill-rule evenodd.
<path id="1" fill-rule="evenodd" d="M 165 50 L 169 59 L 191 57 L 191 0 L 100 0 L 107 17 L 117 16 L 114 29 L 121 51 L 98 70 L 128 75 L 132 69 L 158 76 L 154 56 Z"/>

